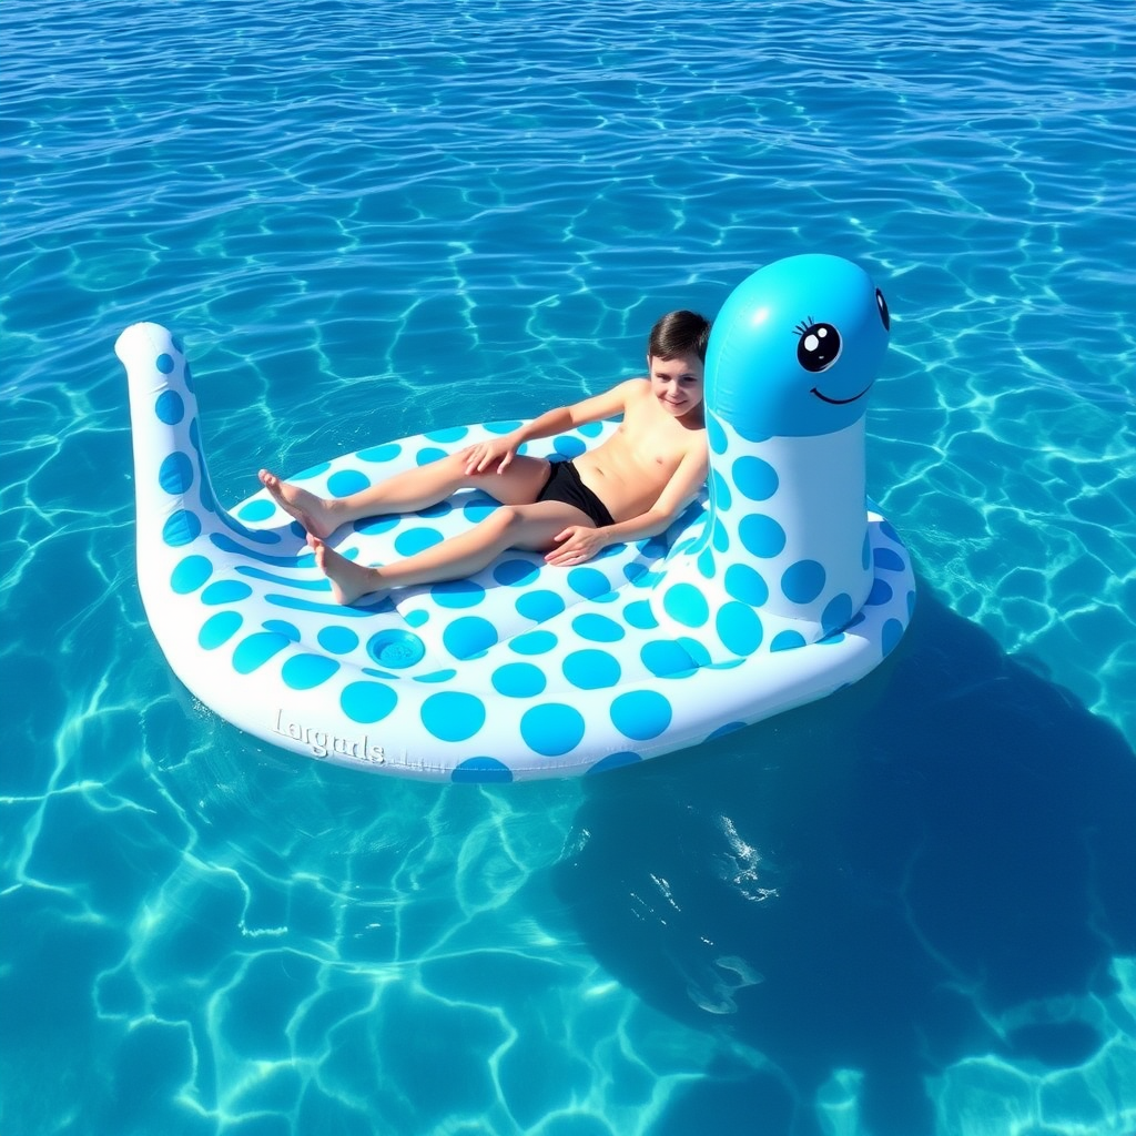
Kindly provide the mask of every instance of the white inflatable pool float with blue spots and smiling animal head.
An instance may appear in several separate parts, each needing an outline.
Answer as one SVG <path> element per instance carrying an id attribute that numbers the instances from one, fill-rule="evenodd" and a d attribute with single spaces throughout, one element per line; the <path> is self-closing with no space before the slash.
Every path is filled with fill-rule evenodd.
<path id="1" fill-rule="evenodd" d="M 887 308 L 849 261 L 801 256 L 729 296 L 705 369 L 710 475 L 661 537 L 577 568 L 511 551 L 466 580 L 341 607 L 265 491 L 216 500 L 190 368 L 156 324 L 119 336 L 153 633 L 207 707 L 284 749 L 454 782 L 596 772 L 696 745 L 861 678 L 895 646 L 914 580 L 864 495 L 864 411 Z M 517 423 L 431 431 L 292 481 L 345 495 Z M 613 424 L 528 452 L 574 456 Z M 344 526 L 382 563 L 494 508 L 461 491 Z"/>

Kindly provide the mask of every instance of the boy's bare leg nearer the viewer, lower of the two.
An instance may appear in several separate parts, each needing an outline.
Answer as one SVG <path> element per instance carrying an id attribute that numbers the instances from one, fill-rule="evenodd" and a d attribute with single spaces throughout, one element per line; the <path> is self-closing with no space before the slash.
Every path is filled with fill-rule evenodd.
<path id="1" fill-rule="evenodd" d="M 316 550 L 316 562 L 332 582 L 336 600 L 352 603 L 361 595 L 391 587 L 465 579 L 492 563 L 506 549 L 546 552 L 569 525 L 595 527 L 579 509 L 562 501 L 502 506 L 468 532 L 382 568 L 354 563 L 318 537 L 309 543 Z"/>

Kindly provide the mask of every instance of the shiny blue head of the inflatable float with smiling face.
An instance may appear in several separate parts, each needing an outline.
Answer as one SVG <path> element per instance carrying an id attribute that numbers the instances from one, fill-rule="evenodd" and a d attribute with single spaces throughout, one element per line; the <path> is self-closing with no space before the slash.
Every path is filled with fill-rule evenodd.
<path id="1" fill-rule="evenodd" d="M 744 279 L 710 333 L 705 406 L 751 442 L 818 437 L 868 408 L 888 339 L 884 295 L 841 257 L 787 257 Z"/>

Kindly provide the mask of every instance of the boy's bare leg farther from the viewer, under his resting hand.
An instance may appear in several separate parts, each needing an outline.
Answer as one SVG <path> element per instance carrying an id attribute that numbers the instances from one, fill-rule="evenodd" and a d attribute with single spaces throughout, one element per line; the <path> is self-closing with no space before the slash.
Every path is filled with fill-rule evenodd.
<path id="1" fill-rule="evenodd" d="M 502 504 L 531 504 L 549 476 L 549 462 L 544 458 L 518 456 L 504 473 L 467 474 L 465 461 L 458 454 L 450 454 L 404 469 L 345 498 L 321 498 L 282 482 L 267 469 L 261 469 L 257 476 L 286 513 L 312 536 L 324 538 L 340 525 L 362 517 L 427 509 L 459 488 L 483 490 Z"/>

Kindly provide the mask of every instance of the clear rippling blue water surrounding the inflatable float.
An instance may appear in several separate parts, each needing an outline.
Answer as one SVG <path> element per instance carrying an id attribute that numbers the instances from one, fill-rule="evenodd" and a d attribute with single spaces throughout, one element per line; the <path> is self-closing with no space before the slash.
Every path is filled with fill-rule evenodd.
<path id="1" fill-rule="evenodd" d="M 1136 16 L 8 0 L 6 1134 L 1136 1127 Z M 216 487 L 637 373 L 795 252 L 893 312 L 862 686 L 577 782 L 403 784 L 197 705 L 117 333 Z"/>

